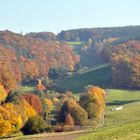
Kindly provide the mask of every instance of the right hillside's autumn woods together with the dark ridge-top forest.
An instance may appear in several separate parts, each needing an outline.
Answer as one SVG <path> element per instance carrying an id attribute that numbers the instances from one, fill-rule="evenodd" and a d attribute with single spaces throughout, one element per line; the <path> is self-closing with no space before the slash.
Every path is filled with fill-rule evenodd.
<path id="1" fill-rule="evenodd" d="M 112 86 L 140 88 L 140 26 L 67 30 L 58 38 L 85 41 L 81 47 L 85 56 L 110 63 Z"/>

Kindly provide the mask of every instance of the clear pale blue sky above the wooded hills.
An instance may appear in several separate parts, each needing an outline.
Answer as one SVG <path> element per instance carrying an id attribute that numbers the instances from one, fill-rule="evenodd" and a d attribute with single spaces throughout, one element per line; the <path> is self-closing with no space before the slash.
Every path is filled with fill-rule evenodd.
<path id="1" fill-rule="evenodd" d="M 0 0 L 0 30 L 17 33 L 140 25 L 140 0 Z"/>

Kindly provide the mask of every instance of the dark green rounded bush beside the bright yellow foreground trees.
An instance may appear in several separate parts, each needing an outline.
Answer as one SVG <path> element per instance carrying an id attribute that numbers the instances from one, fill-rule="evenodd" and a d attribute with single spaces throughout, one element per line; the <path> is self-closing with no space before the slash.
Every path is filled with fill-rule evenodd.
<path id="1" fill-rule="evenodd" d="M 46 122 L 40 116 L 30 117 L 21 131 L 24 135 L 41 133 L 46 130 Z"/>

